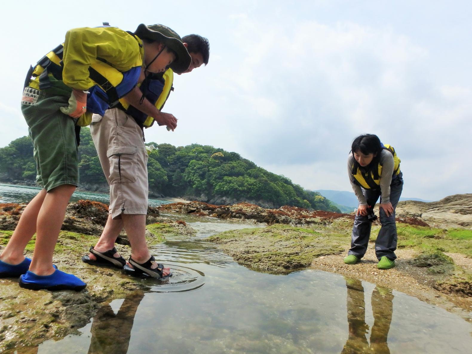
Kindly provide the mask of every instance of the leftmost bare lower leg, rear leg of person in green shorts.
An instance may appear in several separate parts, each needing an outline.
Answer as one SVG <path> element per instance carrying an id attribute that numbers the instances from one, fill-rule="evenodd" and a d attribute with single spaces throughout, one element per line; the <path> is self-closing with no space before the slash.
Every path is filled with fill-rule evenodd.
<path id="1" fill-rule="evenodd" d="M 25 259 L 23 253 L 25 252 L 26 244 L 28 244 L 36 232 L 36 222 L 45 196 L 46 190 L 42 189 L 28 203 L 21 214 L 13 235 L 0 255 L 1 261 L 8 264 L 19 264 Z"/>

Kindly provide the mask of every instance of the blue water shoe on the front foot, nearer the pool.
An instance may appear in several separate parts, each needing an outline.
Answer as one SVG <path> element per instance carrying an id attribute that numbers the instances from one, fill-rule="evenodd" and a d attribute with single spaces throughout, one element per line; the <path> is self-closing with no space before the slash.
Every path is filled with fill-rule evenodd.
<path id="1" fill-rule="evenodd" d="M 87 284 L 75 275 L 56 269 L 51 275 L 40 276 L 29 270 L 19 280 L 20 287 L 31 290 L 75 290 L 84 289 Z"/>

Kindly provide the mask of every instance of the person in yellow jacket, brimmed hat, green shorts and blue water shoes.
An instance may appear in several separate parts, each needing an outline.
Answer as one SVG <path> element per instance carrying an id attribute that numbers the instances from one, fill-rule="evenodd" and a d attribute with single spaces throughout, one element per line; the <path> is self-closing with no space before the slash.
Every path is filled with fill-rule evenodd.
<path id="1" fill-rule="evenodd" d="M 22 112 L 33 140 L 37 182 L 43 189 L 25 208 L 0 255 L 0 277 L 20 276 L 21 287 L 35 290 L 79 291 L 86 286 L 52 264 L 67 203 L 78 185 L 77 121 L 86 112 L 103 114 L 132 90 L 142 66 L 152 73 L 168 66 L 183 72 L 190 60 L 178 34 L 165 26 L 144 40 L 116 27 L 85 27 L 68 31 L 64 44 L 32 67 Z M 166 123 L 176 125 L 171 118 Z M 23 253 L 34 233 L 30 260 Z"/>

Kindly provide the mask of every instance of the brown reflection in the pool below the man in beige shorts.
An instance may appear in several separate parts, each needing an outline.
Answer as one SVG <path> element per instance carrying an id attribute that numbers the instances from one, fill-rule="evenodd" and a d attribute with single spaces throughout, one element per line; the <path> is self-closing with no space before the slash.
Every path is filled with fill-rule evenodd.
<path id="1" fill-rule="evenodd" d="M 92 338 L 88 354 L 128 352 L 135 314 L 143 297 L 143 291 L 127 295 L 116 314 L 109 304 L 98 310 L 90 329 Z"/>

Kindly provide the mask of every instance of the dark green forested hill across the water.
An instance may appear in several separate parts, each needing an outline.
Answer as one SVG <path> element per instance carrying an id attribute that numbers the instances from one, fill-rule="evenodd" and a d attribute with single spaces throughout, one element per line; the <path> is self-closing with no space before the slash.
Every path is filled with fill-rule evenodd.
<path id="1" fill-rule="evenodd" d="M 337 211 L 319 193 L 303 189 L 242 158 L 236 152 L 208 145 L 175 147 L 154 144 L 149 154 L 149 190 L 153 196 L 182 197 L 212 204 L 250 202 L 263 207 L 293 205 L 306 209 Z M 82 128 L 79 146 L 80 187 L 96 191 L 107 186 L 90 129 Z M 0 148 L 0 181 L 34 182 L 36 164 L 29 137 Z"/>

